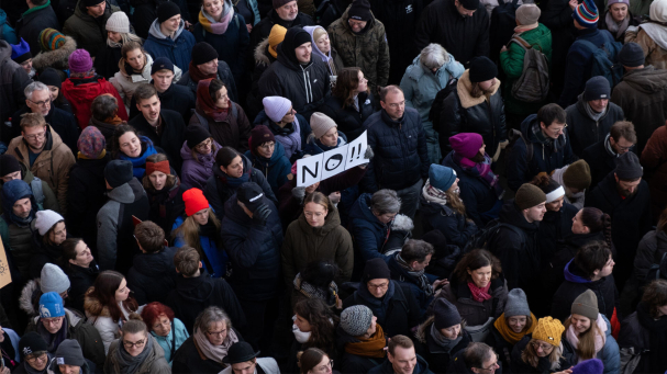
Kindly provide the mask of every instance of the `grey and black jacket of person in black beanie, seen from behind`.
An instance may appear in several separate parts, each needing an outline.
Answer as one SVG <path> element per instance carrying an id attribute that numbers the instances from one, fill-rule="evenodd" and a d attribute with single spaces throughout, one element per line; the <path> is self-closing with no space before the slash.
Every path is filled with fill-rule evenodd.
<path id="1" fill-rule="evenodd" d="M 107 193 L 109 201 L 98 212 L 98 261 L 100 269 L 127 271 L 138 246 L 132 233 L 132 216 L 148 219 L 148 196 L 141 183 L 133 178 Z"/>

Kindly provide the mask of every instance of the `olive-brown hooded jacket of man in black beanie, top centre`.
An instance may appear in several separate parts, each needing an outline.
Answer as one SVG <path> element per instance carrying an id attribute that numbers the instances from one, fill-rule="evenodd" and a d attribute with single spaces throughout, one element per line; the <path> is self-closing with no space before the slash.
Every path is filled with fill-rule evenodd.
<path id="1" fill-rule="evenodd" d="M 370 12 L 370 20 L 360 33 L 349 26 L 349 7 L 343 15 L 329 26 L 331 45 L 338 52 L 345 66 L 356 66 L 368 79 L 370 92 L 387 86 L 389 80 L 389 45 L 385 25 Z"/>

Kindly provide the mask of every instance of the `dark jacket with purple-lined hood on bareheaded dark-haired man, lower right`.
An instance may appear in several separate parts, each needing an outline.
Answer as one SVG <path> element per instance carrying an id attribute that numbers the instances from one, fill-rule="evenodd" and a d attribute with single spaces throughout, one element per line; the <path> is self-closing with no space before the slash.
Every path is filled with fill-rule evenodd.
<path id="1" fill-rule="evenodd" d="M 591 281 L 575 263 L 575 260 L 568 262 L 564 274 L 565 282 L 560 284 L 553 296 L 552 317 L 565 321 L 570 315 L 570 308 L 575 299 L 587 290 L 591 290 L 598 298 L 598 309 L 608 319 L 611 319 L 614 307 L 618 309 L 620 306 L 619 291 L 614 284 L 613 274 L 598 281 Z"/>

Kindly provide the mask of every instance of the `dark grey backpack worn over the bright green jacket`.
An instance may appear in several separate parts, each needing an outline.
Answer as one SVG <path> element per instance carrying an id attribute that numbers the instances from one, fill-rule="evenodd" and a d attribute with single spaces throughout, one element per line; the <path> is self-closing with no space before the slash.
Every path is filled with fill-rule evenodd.
<path id="1" fill-rule="evenodd" d="M 512 37 L 510 43 L 512 42 L 525 49 L 523 71 L 512 84 L 512 97 L 525 103 L 538 103 L 546 100 L 549 93 L 549 66 L 546 56 L 520 36 Z"/>

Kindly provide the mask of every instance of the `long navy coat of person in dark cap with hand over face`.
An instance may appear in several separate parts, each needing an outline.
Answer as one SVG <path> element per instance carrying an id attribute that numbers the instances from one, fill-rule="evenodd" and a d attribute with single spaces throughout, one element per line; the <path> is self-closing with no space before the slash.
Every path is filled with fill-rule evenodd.
<path id="1" fill-rule="evenodd" d="M 245 214 L 236 203 L 236 194 L 224 204 L 220 235 L 233 269 L 227 281 L 236 297 L 245 301 L 274 298 L 281 281 L 282 225 L 274 202 L 266 196 L 262 200 L 271 209 L 265 226 L 257 225 Z"/>

